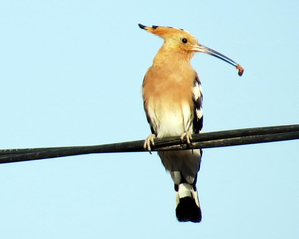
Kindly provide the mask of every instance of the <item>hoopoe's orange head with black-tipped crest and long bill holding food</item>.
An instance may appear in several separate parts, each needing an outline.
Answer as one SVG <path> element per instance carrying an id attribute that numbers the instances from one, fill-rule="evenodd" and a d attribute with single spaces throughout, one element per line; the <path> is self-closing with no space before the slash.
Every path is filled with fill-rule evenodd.
<path id="1" fill-rule="evenodd" d="M 168 26 L 144 26 L 138 24 L 141 29 L 147 30 L 150 33 L 158 35 L 164 39 L 162 48 L 168 52 L 173 51 L 180 54 L 184 54 L 187 59 L 191 59 L 195 52 L 203 52 L 215 56 L 227 63 L 235 66 L 239 70 L 239 76 L 242 76 L 244 69 L 232 59 L 229 59 L 225 55 L 203 46 L 198 43 L 196 37 L 183 29 L 177 29 Z"/>

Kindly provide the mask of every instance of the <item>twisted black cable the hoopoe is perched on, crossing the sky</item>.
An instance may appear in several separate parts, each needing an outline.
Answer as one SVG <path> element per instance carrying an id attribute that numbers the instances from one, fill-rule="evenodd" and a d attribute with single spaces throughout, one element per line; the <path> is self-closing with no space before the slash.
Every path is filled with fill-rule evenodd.
<path id="1" fill-rule="evenodd" d="M 193 149 L 292 140 L 299 139 L 299 124 L 200 133 L 193 134 L 192 138 L 191 148 Z M 152 151 L 190 149 L 188 145 L 181 143 L 180 137 L 155 139 L 154 143 L 155 147 L 152 147 Z M 186 143 L 185 140 L 184 143 Z M 144 152 L 143 144 L 144 140 L 138 140 L 94 146 L 2 149 L 0 150 L 0 163 L 90 153 Z"/>

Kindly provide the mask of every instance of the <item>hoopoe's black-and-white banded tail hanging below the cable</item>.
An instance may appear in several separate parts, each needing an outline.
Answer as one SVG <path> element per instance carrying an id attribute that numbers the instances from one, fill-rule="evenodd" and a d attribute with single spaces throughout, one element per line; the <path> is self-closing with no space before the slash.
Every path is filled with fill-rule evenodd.
<path id="1" fill-rule="evenodd" d="M 176 189 L 176 217 L 179 222 L 194 222 L 201 221 L 201 210 L 195 184 L 181 183 Z"/>

